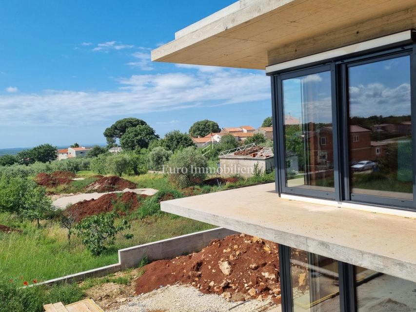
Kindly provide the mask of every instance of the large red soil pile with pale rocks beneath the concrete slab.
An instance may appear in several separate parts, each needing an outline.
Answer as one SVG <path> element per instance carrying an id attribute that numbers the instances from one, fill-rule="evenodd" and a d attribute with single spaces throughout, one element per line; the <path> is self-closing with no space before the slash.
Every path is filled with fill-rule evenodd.
<path id="1" fill-rule="evenodd" d="M 278 244 L 235 234 L 211 241 L 199 253 L 146 265 L 136 281 L 136 293 L 180 283 L 233 301 L 271 296 L 279 303 L 278 267 Z"/>

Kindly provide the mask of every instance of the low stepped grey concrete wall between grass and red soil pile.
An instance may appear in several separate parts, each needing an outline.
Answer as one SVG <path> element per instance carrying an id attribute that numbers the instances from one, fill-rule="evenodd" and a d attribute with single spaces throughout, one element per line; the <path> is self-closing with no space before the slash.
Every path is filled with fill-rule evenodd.
<path id="1" fill-rule="evenodd" d="M 216 238 L 223 238 L 236 232 L 224 228 L 201 231 L 178 237 L 159 240 L 157 242 L 134 246 L 119 250 L 119 263 L 109 266 L 54 278 L 36 285 L 53 285 L 58 283 L 73 283 L 89 277 L 101 277 L 128 268 L 135 268 L 141 259 L 147 256 L 149 260 L 174 258 L 183 254 L 199 252 Z"/>

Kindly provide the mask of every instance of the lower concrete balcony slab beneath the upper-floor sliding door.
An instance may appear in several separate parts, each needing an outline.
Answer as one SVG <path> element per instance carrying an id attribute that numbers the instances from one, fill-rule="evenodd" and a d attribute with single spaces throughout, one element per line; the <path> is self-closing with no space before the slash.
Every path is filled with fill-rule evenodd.
<path id="1" fill-rule="evenodd" d="M 274 189 L 268 183 L 160 206 L 164 212 L 416 282 L 416 213 L 387 215 L 306 203 L 280 198 Z"/>

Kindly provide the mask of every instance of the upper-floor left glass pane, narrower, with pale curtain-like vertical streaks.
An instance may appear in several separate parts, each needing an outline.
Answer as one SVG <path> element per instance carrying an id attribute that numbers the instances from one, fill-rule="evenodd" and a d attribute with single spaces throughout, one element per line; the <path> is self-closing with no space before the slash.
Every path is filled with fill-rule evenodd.
<path id="1" fill-rule="evenodd" d="M 334 192 L 331 73 L 283 80 L 286 186 Z"/>

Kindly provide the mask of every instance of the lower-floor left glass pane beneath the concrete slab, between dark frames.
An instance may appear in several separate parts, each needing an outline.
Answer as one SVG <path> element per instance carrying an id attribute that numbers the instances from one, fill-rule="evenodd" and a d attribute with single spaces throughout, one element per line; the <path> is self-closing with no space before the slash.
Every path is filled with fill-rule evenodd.
<path id="1" fill-rule="evenodd" d="M 291 249 L 294 312 L 339 311 L 338 261 Z"/>

